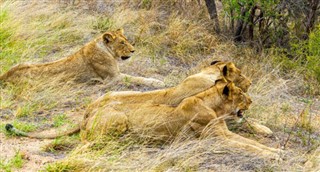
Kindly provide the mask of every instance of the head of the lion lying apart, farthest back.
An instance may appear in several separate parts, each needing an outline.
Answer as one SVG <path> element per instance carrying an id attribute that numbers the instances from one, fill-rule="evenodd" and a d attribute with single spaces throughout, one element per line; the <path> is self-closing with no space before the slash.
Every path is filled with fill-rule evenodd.
<path id="1" fill-rule="evenodd" d="M 134 47 L 123 35 L 123 29 L 118 29 L 114 32 L 105 32 L 102 35 L 103 45 L 109 52 L 112 52 L 114 58 L 126 60 L 134 52 Z"/>

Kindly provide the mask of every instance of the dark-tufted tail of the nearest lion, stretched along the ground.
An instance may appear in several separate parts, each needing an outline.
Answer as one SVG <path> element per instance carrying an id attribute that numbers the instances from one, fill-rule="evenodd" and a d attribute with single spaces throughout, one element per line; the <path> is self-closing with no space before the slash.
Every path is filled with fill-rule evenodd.
<path id="1" fill-rule="evenodd" d="M 23 137 L 30 137 L 30 138 L 36 138 L 36 139 L 55 139 L 61 136 L 67 136 L 74 133 L 77 133 L 80 131 L 80 125 L 77 125 L 71 129 L 68 129 L 66 131 L 62 132 L 55 132 L 55 133 L 26 133 L 23 131 L 20 131 L 16 129 L 12 124 L 6 124 L 5 126 L 6 130 L 10 133 L 16 134 L 17 136 L 23 136 Z"/>

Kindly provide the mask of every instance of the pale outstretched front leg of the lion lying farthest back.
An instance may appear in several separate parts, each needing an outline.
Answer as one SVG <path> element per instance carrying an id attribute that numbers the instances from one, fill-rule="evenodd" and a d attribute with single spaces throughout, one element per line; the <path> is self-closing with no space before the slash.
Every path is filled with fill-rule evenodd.
<path id="1" fill-rule="evenodd" d="M 137 76 L 131 76 L 127 74 L 120 74 L 120 79 L 125 82 L 134 83 L 134 84 L 142 84 L 152 87 L 165 87 L 165 83 L 154 79 L 154 78 L 144 78 L 144 77 L 137 77 Z"/>

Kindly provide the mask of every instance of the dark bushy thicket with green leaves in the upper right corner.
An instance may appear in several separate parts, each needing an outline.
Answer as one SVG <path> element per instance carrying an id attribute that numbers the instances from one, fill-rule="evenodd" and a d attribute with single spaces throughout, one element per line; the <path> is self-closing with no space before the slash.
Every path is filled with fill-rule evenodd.
<path id="1" fill-rule="evenodd" d="M 223 0 L 224 19 L 227 19 L 225 28 L 229 26 L 237 42 L 249 41 L 252 46 L 257 46 L 258 51 L 264 48 L 270 54 L 270 48 L 276 47 L 276 53 L 271 52 L 275 56 L 273 63 L 280 64 L 284 75 L 303 73 L 305 93 L 319 93 L 320 26 L 308 35 L 305 20 L 310 5 L 305 1 L 297 1 L 296 5 L 290 4 L 292 2 Z M 250 16 L 252 12 L 254 16 Z"/>

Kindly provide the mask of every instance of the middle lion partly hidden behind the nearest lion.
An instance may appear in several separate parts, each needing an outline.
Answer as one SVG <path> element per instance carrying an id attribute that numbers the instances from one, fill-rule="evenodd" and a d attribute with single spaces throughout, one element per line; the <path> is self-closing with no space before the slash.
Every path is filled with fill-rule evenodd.
<path id="1" fill-rule="evenodd" d="M 193 96 L 214 86 L 215 82 L 222 78 L 234 82 L 244 92 L 248 91 L 252 83 L 249 78 L 241 74 L 240 69 L 234 63 L 213 61 L 210 66 L 203 68 L 199 73 L 188 76 L 175 87 L 149 92 L 110 92 L 96 100 L 96 103 L 105 102 L 106 100 L 110 101 L 110 97 L 112 97 L 112 100 L 125 101 L 127 103 L 149 102 L 176 106 L 184 98 Z"/>

